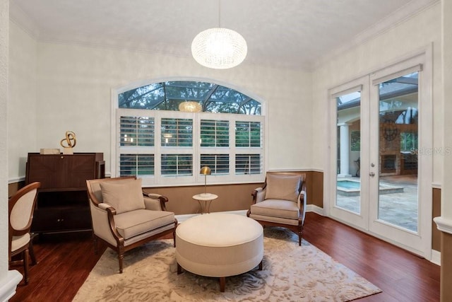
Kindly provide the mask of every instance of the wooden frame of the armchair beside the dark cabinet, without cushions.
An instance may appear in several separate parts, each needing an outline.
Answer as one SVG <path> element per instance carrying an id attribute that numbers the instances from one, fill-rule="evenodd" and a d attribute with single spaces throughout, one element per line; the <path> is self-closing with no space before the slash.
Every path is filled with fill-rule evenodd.
<path id="1" fill-rule="evenodd" d="M 156 233 L 153 236 L 148 236 L 145 237 L 141 240 L 136 241 L 135 243 L 132 243 L 130 245 L 124 245 L 124 237 L 121 236 L 121 234 L 117 231 L 117 227 L 114 223 L 114 216 L 117 214 L 116 210 L 113 207 L 107 207 L 107 208 L 102 208 L 99 206 L 99 204 L 102 204 L 102 202 L 97 199 L 96 195 L 94 194 L 93 191 L 93 185 L 97 185 L 100 182 L 113 182 L 116 180 L 124 180 L 124 179 L 136 179 L 136 176 L 126 176 L 126 177 L 121 177 L 121 178 L 101 178 L 101 179 L 95 179 L 95 180 L 86 180 L 86 185 L 88 187 L 88 198 L 90 199 L 90 202 L 92 204 L 93 207 L 96 207 L 98 209 L 102 209 L 103 211 L 107 211 L 107 217 L 108 217 L 108 223 L 109 223 L 109 231 L 111 232 L 112 236 L 114 237 L 114 240 L 116 240 L 116 245 L 112 245 L 111 243 L 109 243 L 107 240 L 101 238 L 100 236 L 97 236 L 97 234 L 95 233 L 94 230 L 94 226 L 93 226 L 93 243 L 94 243 L 94 250 L 95 253 L 97 254 L 98 252 L 98 240 L 100 240 L 102 243 L 105 243 L 107 246 L 109 246 L 109 248 L 112 248 L 112 250 L 116 250 L 118 253 L 118 260 L 119 260 L 119 272 L 122 273 L 123 270 L 123 260 L 124 260 L 124 252 L 128 251 L 128 250 L 132 250 L 133 248 L 136 248 L 140 245 L 143 245 L 144 243 L 148 243 L 149 241 L 155 240 L 157 238 L 160 238 L 162 236 L 165 236 L 167 234 L 172 233 L 172 237 L 173 237 L 173 245 L 174 247 L 176 246 L 176 228 L 177 228 L 177 219 L 174 219 L 174 228 L 162 231 L 160 233 Z M 159 199 L 160 201 L 160 209 L 162 211 L 166 211 L 166 206 L 165 204 L 168 202 L 168 198 L 162 195 L 158 195 L 158 194 L 148 194 L 143 192 L 143 197 L 147 198 L 147 197 L 152 197 L 153 199 Z"/>

